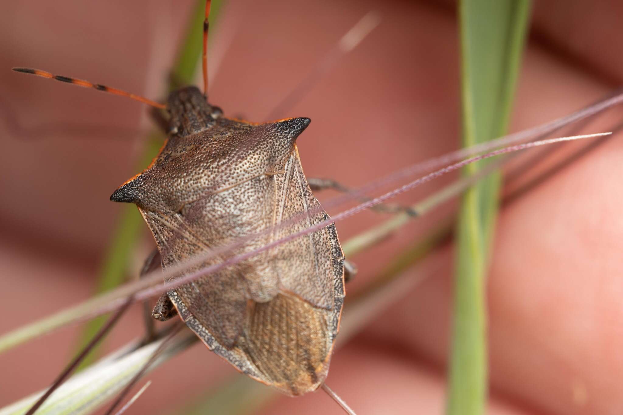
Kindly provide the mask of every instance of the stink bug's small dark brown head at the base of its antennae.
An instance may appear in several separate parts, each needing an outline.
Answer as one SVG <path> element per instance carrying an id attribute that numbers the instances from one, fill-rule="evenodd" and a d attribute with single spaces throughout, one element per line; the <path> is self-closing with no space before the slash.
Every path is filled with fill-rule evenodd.
<path id="1" fill-rule="evenodd" d="M 196 86 L 187 86 L 169 94 L 166 109 L 171 114 L 169 131 L 175 131 L 178 136 L 188 136 L 211 128 L 214 121 L 223 111 L 212 106 Z"/>

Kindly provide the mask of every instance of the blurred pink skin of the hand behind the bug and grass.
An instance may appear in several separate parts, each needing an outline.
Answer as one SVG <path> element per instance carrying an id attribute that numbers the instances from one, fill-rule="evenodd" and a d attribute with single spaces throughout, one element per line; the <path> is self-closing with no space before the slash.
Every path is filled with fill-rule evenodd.
<path id="1" fill-rule="evenodd" d="M 108 197 L 138 172 L 150 129 L 147 109 L 134 101 L 10 68 L 41 68 L 162 99 L 193 3 L 1 2 L 0 333 L 92 296 L 123 208 Z M 227 1 L 211 32 L 211 103 L 262 121 L 371 9 L 381 12 L 379 27 L 282 114 L 312 119 L 298 140 L 306 174 L 356 187 L 457 148 L 459 43 L 450 1 Z M 536 2 L 511 130 L 567 114 L 621 83 L 622 15 L 614 0 Z M 611 111 L 590 129 L 620 121 L 620 111 Z M 621 147 L 620 139 L 608 141 L 502 211 L 488 287 L 491 413 L 623 411 Z M 351 258 L 359 274 L 348 292 L 453 207 Z M 383 219 L 366 212 L 339 223 L 340 238 Z M 128 277 L 150 244 L 145 231 Z M 450 245 L 437 249 L 417 269 L 424 282 L 336 351 L 328 383 L 358 413 L 443 411 L 452 259 Z M 104 349 L 135 338 L 141 326 L 137 305 Z M 49 385 L 77 350 L 81 329 L 65 327 L 2 353 L 0 406 Z M 146 377 L 153 384 L 131 413 L 184 413 L 233 376 L 240 375 L 197 343 Z M 278 398 L 263 411 L 341 410 L 315 393 Z"/>

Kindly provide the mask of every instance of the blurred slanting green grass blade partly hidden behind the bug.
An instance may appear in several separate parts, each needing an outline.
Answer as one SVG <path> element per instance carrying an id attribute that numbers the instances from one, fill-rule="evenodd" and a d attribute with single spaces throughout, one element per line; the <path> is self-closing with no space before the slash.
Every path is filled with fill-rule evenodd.
<path id="1" fill-rule="evenodd" d="M 216 22 L 219 11 L 221 10 L 223 1 L 214 0 L 210 9 L 210 23 Z M 186 30 L 186 37 L 179 50 L 173 71 L 171 72 L 171 80 L 169 81 L 168 90 L 174 90 L 181 85 L 189 85 L 193 82 L 194 73 L 199 65 L 199 58 L 202 54 L 203 44 L 203 21 L 205 16 L 205 0 L 197 0 L 193 10 L 189 26 Z M 214 26 L 212 26 L 214 27 Z M 159 131 L 152 131 L 148 134 L 148 144 L 145 146 L 143 155 L 140 157 L 140 163 L 136 171 L 141 171 L 147 167 L 151 160 L 158 154 L 158 150 L 164 141 L 164 136 Z M 143 218 L 136 211 L 136 207 L 128 205 L 124 207 L 121 217 L 119 218 L 115 229 L 112 231 L 111 243 L 108 252 L 105 255 L 102 266 L 98 273 L 98 282 L 96 293 L 108 291 L 117 287 L 124 281 L 131 256 L 135 253 L 134 247 L 141 235 L 141 230 L 145 226 Z M 85 327 L 81 340 L 80 349 L 86 345 L 91 338 L 98 332 L 107 315 L 102 315 L 88 322 Z M 79 368 L 85 368 L 95 361 L 97 358 L 97 350 L 93 349 L 92 353 L 82 361 Z"/>

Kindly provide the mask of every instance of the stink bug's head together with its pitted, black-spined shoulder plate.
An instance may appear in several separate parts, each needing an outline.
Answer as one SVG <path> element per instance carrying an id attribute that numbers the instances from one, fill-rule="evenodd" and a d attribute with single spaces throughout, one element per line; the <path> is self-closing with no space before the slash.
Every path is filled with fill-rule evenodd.
<path id="1" fill-rule="evenodd" d="M 283 170 L 305 117 L 247 123 L 222 116 L 195 87 L 169 95 L 171 132 L 150 166 L 126 181 L 110 200 L 172 215 L 189 203 Z"/>

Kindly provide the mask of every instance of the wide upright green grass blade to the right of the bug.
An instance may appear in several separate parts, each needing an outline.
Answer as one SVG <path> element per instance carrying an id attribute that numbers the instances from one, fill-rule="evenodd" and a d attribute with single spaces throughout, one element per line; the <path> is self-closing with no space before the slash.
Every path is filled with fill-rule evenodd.
<path id="1" fill-rule="evenodd" d="M 529 0 L 460 3 L 463 145 L 505 133 L 526 35 Z M 483 163 L 465 168 L 475 174 Z M 500 175 L 463 197 L 457 226 L 452 352 L 447 413 L 483 414 L 487 399 L 485 277 L 497 217 Z"/>

